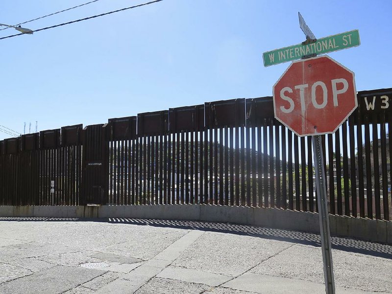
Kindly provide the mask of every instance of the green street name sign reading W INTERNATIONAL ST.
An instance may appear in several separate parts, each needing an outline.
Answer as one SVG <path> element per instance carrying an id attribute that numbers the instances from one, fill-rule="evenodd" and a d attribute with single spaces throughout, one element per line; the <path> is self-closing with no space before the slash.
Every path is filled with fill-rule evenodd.
<path id="1" fill-rule="evenodd" d="M 310 54 L 323 54 L 332 51 L 343 50 L 356 47 L 361 44 L 359 40 L 359 31 L 357 29 L 318 39 L 311 44 L 297 44 L 281 49 L 275 49 L 263 53 L 264 66 L 270 66 L 296 59 Z"/>

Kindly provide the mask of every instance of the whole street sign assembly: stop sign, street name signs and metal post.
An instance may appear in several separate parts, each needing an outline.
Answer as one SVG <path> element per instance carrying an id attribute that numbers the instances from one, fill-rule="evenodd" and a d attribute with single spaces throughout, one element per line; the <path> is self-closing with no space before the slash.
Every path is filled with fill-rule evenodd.
<path id="1" fill-rule="evenodd" d="M 270 66 L 304 59 L 294 61 L 272 87 L 274 117 L 296 135 L 312 136 L 325 292 L 335 294 L 325 158 L 320 134 L 335 132 L 358 105 L 354 73 L 328 56 L 316 56 L 359 46 L 359 32 L 353 30 L 316 39 L 299 12 L 298 19 L 306 41 L 264 52 L 263 60 L 264 66 Z M 338 82 L 340 86 L 336 87 Z M 316 94 L 316 88 L 319 89 L 319 95 Z"/>

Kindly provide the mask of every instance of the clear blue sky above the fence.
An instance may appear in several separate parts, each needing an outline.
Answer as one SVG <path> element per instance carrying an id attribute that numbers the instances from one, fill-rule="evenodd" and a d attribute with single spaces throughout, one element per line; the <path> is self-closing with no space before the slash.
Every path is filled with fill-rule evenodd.
<path id="1" fill-rule="evenodd" d="M 14 25 L 88 0 L 4 0 Z M 143 3 L 99 0 L 31 29 Z M 262 53 L 304 41 L 298 11 L 316 37 L 359 29 L 361 46 L 329 55 L 356 74 L 357 90 L 392 87 L 392 2 L 164 0 L 100 18 L 0 40 L 0 124 L 18 133 L 272 95 L 289 63 Z M 0 37 L 14 34 L 0 31 Z M 10 136 L 0 132 L 0 140 Z"/>

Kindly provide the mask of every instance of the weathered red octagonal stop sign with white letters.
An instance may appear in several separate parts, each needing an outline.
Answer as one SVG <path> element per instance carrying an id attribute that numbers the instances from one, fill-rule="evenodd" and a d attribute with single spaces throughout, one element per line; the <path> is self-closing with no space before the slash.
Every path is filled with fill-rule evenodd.
<path id="1" fill-rule="evenodd" d="M 354 73 L 327 55 L 293 62 L 273 86 L 275 118 L 298 136 L 335 132 L 358 106 Z"/>

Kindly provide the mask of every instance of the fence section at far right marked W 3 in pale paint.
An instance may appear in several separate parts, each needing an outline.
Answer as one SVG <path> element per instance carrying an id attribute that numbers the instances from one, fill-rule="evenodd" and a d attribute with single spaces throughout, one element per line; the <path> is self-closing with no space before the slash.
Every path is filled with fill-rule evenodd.
<path id="1" fill-rule="evenodd" d="M 353 123 L 357 125 L 356 182 L 361 217 L 389 220 L 392 212 L 391 99 L 392 89 L 358 93 Z"/>

